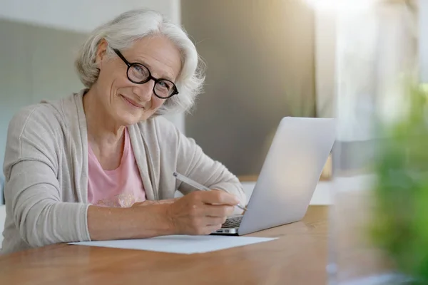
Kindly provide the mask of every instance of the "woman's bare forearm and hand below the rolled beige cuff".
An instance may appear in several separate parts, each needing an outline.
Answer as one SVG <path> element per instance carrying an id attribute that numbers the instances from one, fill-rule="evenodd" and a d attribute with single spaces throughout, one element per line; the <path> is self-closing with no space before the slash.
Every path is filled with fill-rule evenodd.
<path id="1" fill-rule="evenodd" d="M 92 240 L 144 239 L 169 234 L 210 234 L 233 213 L 238 198 L 225 191 L 145 201 L 130 208 L 88 207 Z"/>

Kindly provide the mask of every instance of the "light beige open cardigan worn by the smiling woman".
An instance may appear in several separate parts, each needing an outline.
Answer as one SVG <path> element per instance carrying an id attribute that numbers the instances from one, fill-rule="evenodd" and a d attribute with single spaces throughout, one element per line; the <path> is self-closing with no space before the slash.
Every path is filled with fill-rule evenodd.
<path id="1" fill-rule="evenodd" d="M 6 222 L 2 253 L 58 242 L 90 240 L 88 138 L 83 93 L 42 102 L 17 113 L 9 124 L 4 159 Z M 173 198 L 193 188 L 173 172 L 237 195 L 238 178 L 210 159 L 162 117 L 128 127 L 147 199 Z"/>

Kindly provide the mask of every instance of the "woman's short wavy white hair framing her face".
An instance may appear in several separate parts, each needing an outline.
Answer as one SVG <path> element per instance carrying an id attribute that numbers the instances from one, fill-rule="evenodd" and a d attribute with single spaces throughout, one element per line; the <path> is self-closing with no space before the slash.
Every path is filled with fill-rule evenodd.
<path id="1" fill-rule="evenodd" d="M 87 88 L 91 88 L 98 78 L 96 51 L 102 39 L 107 41 L 107 52 L 112 56 L 113 48 L 126 50 L 138 39 L 156 35 L 165 36 L 178 48 L 181 71 L 175 82 L 179 93 L 166 99 L 155 115 L 189 111 L 195 103 L 196 95 L 202 92 L 205 80 L 203 61 L 200 60 L 195 45 L 184 29 L 165 19 L 157 11 L 146 9 L 127 11 L 96 28 L 83 43 L 76 58 L 75 66 L 81 82 Z"/>

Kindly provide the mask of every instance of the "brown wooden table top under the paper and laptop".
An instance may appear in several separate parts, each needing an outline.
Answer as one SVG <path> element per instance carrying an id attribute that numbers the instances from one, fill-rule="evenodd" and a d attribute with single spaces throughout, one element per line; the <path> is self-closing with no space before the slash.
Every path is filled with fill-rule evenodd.
<path id="1" fill-rule="evenodd" d="M 0 257 L 0 284 L 325 284 L 327 210 L 249 234 L 272 242 L 206 254 L 55 244 Z"/>

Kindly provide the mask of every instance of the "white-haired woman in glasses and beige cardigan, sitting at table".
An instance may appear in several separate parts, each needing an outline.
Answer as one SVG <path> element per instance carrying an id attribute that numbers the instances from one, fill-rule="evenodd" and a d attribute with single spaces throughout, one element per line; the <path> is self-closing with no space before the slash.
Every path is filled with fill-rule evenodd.
<path id="1" fill-rule="evenodd" d="M 87 88 L 24 108 L 9 125 L 3 253 L 210 234 L 245 202 L 237 177 L 160 116 L 188 110 L 203 83 L 179 26 L 128 11 L 93 31 L 76 67 Z M 195 191 L 175 171 L 219 191 Z"/>

